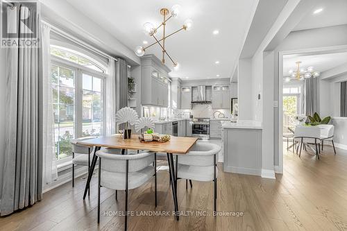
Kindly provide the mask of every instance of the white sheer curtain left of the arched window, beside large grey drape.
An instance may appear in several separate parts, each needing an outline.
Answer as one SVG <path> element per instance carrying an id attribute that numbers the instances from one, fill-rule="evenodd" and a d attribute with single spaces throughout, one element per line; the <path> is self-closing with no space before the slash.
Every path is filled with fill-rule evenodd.
<path id="1" fill-rule="evenodd" d="M 43 180 L 44 184 L 48 185 L 53 180 L 58 178 L 56 153 L 53 139 L 53 105 L 52 105 L 52 87 L 51 87 L 51 55 L 49 52 L 50 32 L 51 28 L 46 25 L 41 25 L 42 29 L 42 72 L 43 72 L 43 90 L 42 90 L 42 105 L 46 110 L 43 111 Z"/>

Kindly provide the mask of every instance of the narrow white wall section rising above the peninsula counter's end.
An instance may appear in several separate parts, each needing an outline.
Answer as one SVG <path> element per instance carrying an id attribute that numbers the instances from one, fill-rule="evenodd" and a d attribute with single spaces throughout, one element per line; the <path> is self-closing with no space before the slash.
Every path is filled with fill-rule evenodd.
<path id="1" fill-rule="evenodd" d="M 237 94 L 239 102 L 239 119 L 253 119 L 252 94 L 252 60 L 240 59 L 238 65 Z"/>

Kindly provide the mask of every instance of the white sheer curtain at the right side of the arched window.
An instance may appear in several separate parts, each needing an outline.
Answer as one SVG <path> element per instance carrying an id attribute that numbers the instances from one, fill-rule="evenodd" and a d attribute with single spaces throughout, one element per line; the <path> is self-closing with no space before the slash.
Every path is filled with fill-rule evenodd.
<path id="1" fill-rule="evenodd" d="M 116 69 L 115 60 L 110 58 L 108 62 L 108 76 L 106 78 L 106 135 L 116 132 Z"/>

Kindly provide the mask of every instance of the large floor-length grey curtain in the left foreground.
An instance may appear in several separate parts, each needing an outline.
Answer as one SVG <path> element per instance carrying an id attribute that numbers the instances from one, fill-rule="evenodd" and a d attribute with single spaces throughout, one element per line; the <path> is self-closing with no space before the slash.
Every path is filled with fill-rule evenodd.
<path id="1" fill-rule="evenodd" d="M 28 14 L 19 3 L 19 15 Z M 36 15 L 30 8 L 31 15 Z M 25 22 L 30 28 L 37 17 Z M 29 19 L 30 19 L 29 18 Z M 40 27 L 37 35 L 40 35 Z M 19 35 L 20 37 L 20 35 Z M 20 39 L 20 38 L 19 38 Z M 7 53 L 6 148 L 4 153 L 1 216 L 42 199 L 42 60 L 40 49 L 10 48 Z M 3 109 L 5 110 L 5 109 Z"/>

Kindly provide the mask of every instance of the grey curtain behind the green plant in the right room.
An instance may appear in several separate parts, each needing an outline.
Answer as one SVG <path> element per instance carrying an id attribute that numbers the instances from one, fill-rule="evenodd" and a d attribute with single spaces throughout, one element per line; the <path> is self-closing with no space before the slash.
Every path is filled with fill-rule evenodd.
<path id="1" fill-rule="evenodd" d="M 313 116 L 314 112 L 319 113 L 319 79 L 307 78 L 306 85 L 306 115 Z"/>

